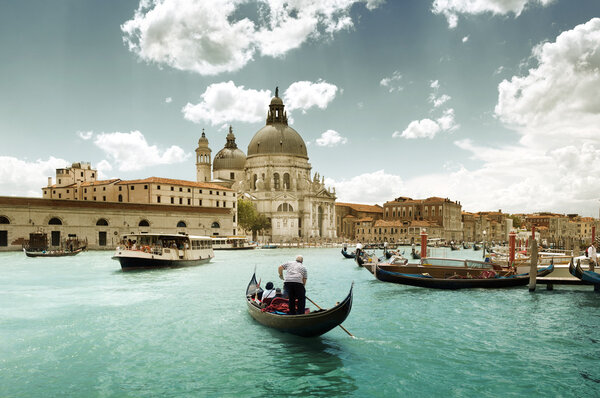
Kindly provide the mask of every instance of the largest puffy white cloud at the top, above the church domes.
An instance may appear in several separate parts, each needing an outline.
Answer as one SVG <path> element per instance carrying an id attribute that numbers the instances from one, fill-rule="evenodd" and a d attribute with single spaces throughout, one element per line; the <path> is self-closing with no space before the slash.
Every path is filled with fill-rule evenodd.
<path id="1" fill-rule="evenodd" d="M 129 50 L 142 60 L 202 75 L 233 72 L 256 53 L 280 57 L 308 39 L 353 27 L 350 9 L 382 0 L 141 0 L 121 25 Z M 256 21 L 239 14 L 254 7 Z"/>

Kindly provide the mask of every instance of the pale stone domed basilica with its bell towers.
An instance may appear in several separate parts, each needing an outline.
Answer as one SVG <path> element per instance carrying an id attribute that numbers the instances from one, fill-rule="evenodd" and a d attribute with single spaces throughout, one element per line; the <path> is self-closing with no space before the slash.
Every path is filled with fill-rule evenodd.
<path id="1" fill-rule="evenodd" d="M 207 149 L 207 143 L 199 142 L 199 181 L 205 178 L 200 170 L 205 170 L 207 154 L 210 157 Z M 312 175 L 306 144 L 288 125 L 278 90 L 265 126 L 248 144 L 247 155 L 237 148 L 230 127 L 225 147 L 215 155 L 212 172 L 212 183 L 231 187 L 270 219 L 271 242 L 336 238 L 335 189 L 327 188 L 318 173 Z"/>

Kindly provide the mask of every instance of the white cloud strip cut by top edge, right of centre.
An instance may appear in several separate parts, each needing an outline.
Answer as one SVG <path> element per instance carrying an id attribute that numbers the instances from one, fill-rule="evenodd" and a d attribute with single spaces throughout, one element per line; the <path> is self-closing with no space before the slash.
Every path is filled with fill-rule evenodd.
<path id="1" fill-rule="evenodd" d="M 459 14 L 483 14 L 492 13 L 515 16 L 521 15 L 526 7 L 546 6 L 554 0 L 435 0 L 432 11 L 434 14 L 443 14 L 452 29 L 458 24 Z"/>

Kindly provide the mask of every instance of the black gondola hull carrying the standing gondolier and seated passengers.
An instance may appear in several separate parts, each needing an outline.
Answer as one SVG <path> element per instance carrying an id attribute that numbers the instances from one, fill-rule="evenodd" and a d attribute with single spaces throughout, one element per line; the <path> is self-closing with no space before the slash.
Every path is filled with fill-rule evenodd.
<path id="1" fill-rule="evenodd" d="M 327 333 L 346 320 L 352 309 L 353 287 L 354 283 L 350 287 L 348 296 L 331 309 L 302 315 L 276 314 L 262 311 L 259 303 L 254 299 L 255 294 L 261 292 L 262 288 L 256 282 L 256 274 L 253 274 L 246 289 L 246 304 L 252 318 L 265 326 L 297 336 L 316 337 Z"/>

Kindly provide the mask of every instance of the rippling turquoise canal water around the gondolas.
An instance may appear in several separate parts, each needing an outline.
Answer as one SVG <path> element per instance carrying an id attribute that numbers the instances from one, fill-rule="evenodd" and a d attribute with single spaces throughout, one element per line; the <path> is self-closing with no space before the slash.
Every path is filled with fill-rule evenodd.
<path id="1" fill-rule="evenodd" d="M 426 290 L 378 282 L 340 249 L 215 253 L 134 273 L 111 252 L 0 254 L 0 397 L 600 395 L 591 287 Z M 355 282 L 344 326 L 356 339 L 303 339 L 247 314 L 254 268 L 281 286 L 277 265 L 296 254 L 322 307 Z"/>

